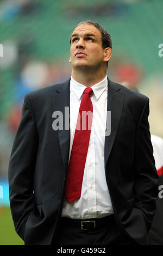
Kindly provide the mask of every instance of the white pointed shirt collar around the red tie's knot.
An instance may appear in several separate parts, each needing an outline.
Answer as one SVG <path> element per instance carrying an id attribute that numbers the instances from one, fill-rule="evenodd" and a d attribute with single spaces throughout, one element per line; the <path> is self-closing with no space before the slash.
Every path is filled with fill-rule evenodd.
<path id="1" fill-rule="evenodd" d="M 108 80 L 107 80 L 107 76 L 105 76 L 105 78 L 99 82 L 94 84 L 94 86 L 92 86 L 92 90 L 93 90 L 93 94 L 96 97 L 96 100 L 99 99 L 99 97 L 103 94 L 104 90 L 108 87 Z M 83 92 L 86 88 L 86 86 L 84 86 L 81 83 L 78 83 L 77 81 L 75 81 L 73 79 L 73 77 L 71 76 L 71 81 L 70 81 L 70 88 L 73 90 L 73 92 L 77 95 L 78 99 L 80 99 L 80 97 L 82 97 Z"/>

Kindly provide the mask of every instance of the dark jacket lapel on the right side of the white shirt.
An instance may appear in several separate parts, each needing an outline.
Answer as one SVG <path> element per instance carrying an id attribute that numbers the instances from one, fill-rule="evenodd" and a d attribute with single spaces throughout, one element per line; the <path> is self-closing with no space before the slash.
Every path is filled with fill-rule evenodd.
<path id="1" fill-rule="evenodd" d="M 118 126 L 122 115 L 124 103 L 124 94 L 121 92 L 121 87 L 118 84 L 111 82 L 108 79 L 108 106 L 106 118 L 106 130 L 109 125 L 111 130 L 110 134 L 105 136 L 105 168 L 111 153 L 112 145 L 114 144 Z M 111 117 L 111 118 L 110 118 Z"/>

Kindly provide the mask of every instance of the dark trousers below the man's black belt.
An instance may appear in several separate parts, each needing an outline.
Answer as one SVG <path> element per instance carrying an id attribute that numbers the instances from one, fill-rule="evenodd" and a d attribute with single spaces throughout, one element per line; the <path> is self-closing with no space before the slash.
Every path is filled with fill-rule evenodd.
<path id="1" fill-rule="evenodd" d="M 125 231 L 118 228 L 115 219 L 109 219 L 105 226 L 95 230 L 82 230 L 80 227 L 72 227 L 60 224 L 57 245 L 139 245 Z"/>

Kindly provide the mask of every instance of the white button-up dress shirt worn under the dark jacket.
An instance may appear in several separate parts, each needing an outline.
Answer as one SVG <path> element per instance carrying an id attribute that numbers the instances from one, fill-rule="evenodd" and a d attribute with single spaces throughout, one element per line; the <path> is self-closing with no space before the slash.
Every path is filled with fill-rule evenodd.
<path id="1" fill-rule="evenodd" d="M 77 124 L 80 102 L 86 87 L 76 82 L 72 77 L 70 81 L 70 155 L 74 132 Z M 105 178 L 104 143 L 108 98 L 108 80 L 91 87 L 93 94 L 93 118 L 90 143 L 87 151 L 81 197 L 73 203 L 64 198 L 62 217 L 76 219 L 101 218 L 113 214 L 110 194 Z M 69 155 L 69 160 L 70 160 Z"/>

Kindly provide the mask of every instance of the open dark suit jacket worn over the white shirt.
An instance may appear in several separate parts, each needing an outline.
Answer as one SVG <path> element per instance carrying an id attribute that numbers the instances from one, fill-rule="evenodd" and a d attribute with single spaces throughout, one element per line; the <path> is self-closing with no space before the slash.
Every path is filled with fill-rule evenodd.
<path id="1" fill-rule="evenodd" d="M 147 243 L 158 194 L 148 103 L 145 95 L 108 79 L 106 181 L 118 226 L 141 244 Z M 57 239 L 70 130 L 54 131 L 52 114 L 64 113 L 65 106 L 70 106 L 70 80 L 24 98 L 9 162 L 9 194 L 15 229 L 26 245 L 51 245 Z"/>

